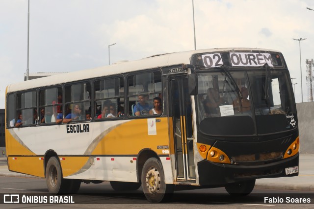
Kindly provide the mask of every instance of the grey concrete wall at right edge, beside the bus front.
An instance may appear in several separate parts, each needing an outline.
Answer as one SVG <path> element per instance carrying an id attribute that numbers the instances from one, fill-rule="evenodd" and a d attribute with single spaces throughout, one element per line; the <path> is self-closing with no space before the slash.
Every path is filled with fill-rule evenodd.
<path id="1" fill-rule="evenodd" d="M 314 102 L 297 103 L 300 153 L 314 154 Z"/>

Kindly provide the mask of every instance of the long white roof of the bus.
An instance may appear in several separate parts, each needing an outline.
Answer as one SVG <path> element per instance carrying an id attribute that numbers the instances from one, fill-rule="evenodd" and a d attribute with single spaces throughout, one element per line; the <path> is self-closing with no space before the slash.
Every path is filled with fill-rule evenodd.
<path id="1" fill-rule="evenodd" d="M 163 66 L 189 64 L 190 58 L 193 54 L 206 53 L 206 52 L 222 52 L 222 51 L 273 51 L 272 49 L 261 48 L 212 48 L 212 49 L 200 49 L 183 52 L 174 52 L 151 56 L 135 61 L 120 62 L 109 66 L 79 70 L 68 73 L 62 73 L 58 75 L 52 75 L 49 77 L 37 78 L 33 80 L 23 81 L 19 83 L 10 84 L 7 86 L 7 93 L 21 91 L 26 89 L 51 86 L 55 84 L 63 84 L 72 81 L 84 80 L 89 78 L 97 78 L 105 75 L 114 75 L 125 72 L 132 72 L 135 70 L 145 70 L 158 68 Z"/>

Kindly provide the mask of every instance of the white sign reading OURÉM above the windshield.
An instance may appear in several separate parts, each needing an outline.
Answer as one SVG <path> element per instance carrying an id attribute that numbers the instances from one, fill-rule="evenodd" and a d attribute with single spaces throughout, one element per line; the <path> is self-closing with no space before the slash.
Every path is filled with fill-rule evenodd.
<path id="1" fill-rule="evenodd" d="M 268 64 L 273 67 L 273 61 L 269 53 L 247 53 L 247 52 L 231 52 L 230 60 L 232 66 L 263 66 Z"/>

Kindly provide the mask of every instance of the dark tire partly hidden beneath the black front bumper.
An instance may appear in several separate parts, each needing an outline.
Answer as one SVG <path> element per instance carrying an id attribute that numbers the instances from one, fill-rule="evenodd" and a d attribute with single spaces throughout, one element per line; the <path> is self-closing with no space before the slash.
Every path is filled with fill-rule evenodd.
<path id="1" fill-rule="evenodd" d="M 255 179 L 245 182 L 230 183 L 225 186 L 227 192 L 234 196 L 244 196 L 252 192 L 255 186 Z"/>

